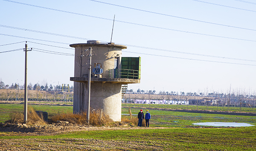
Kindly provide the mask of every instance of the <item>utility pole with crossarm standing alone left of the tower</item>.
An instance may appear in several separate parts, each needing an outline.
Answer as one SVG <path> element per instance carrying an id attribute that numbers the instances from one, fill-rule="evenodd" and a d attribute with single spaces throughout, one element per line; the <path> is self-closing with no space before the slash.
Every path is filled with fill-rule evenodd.
<path id="1" fill-rule="evenodd" d="M 28 45 L 25 44 L 25 83 L 24 83 L 24 123 L 27 123 L 28 120 L 28 84 L 27 84 L 27 50 Z"/>

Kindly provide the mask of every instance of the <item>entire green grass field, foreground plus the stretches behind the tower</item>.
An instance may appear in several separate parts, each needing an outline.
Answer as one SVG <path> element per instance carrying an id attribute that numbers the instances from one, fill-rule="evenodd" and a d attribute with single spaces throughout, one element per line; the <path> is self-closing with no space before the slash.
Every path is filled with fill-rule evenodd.
<path id="1" fill-rule="evenodd" d="M 72 106 L 31 105 L 53 115 L 72 112 Z M 0 104 L 0 122 L 13 111 L 22 111 L 23 104 Z M 131 108 L 136 117 L 139 109 Z M 0 146 L 17 150 L 29 146 L 29 150 L 114 150 L 114 151 L 255 151 L 256 126 L 241 128 L 217 128 L 193 126 L 197 122 L 243 122 L 256 125 L 255 116 L 215 115 L 151 109 L 150 127 L 167 129 L 129 129 L 104 131 L 75 131 L 49 136 L 8 136 L 12 132 L 0 132 Z M 122 108 L 122 114 L 129 114 Z M 122 115 L 128 117 L 129 115 Z M 1 150 L 1 148 L 0 148 Z"/>

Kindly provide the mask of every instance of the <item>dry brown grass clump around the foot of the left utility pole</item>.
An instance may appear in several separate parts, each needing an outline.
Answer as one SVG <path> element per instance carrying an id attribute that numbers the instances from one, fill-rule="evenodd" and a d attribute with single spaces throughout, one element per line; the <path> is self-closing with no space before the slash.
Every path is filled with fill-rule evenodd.
<path id="1" fill-rule="evenodd" d="M 27 113 L 27 123 L 28 125 L 45 125 L 43 116 L 39 116 L 32 107 L 28 107 Z M 14 112 L 11 115 L 11 120 L 6 121 L 6 123 L 24 123 L 23 112 Z"/>

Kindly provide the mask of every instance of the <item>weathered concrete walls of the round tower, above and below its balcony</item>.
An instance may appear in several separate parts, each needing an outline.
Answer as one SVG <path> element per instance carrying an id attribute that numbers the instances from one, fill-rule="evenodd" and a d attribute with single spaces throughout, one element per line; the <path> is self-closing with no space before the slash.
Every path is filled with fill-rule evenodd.
<path id="1" fill-rule="evenodd" d="M 109 78 L 109 69 L 114 68 L 115 57 L 118 57 L 118 68 L 121 68 L 122 49 L 126 46 L 113 44 L 72 44 L 75 48 L 75 71 L 74 77 L 84 77 L 88 75 L 87 65 L 89 51 L 84 51 L 90 47 L 93 49 L 91 57 L 91 69 L 94 68 L 94 63 L 102 64 L 102 78 Z M 84 56 L 81 56 L 84 55 Z M 92 71 L 91 70 L 91 71 Z M 122 84 L 114 84 L 112 82 L 91 82 L 90 89 L 90 108 L 103 109 L 103 112 L 111 117 L 114 121 L 121 121 L 122 109 Z M 87 112 L 87 81 L 74 82 L 74 102 L 73 113 L 81 111 Z"/>

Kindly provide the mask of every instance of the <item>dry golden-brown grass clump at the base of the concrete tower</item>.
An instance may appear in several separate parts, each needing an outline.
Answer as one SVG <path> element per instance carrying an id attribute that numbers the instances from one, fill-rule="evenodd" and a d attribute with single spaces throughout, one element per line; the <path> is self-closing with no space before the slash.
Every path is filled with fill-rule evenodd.
<path id="1" fill-rule="evenodd" d="M 86 112 L 82 112 L 80 114 L 59 113 L 52 116 L 50 120 L 54 123 L 58 120 L 62 120 L 73 124 L 88 125 Z M 92 126 L 108 125 L 112 122 L 113 120 L 111 120 L 108 115 L 102 113 L 100 109 L 95 109 L 90 112 L 90 125 Z"/>

